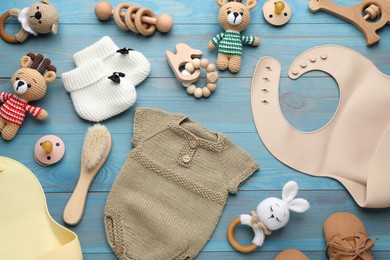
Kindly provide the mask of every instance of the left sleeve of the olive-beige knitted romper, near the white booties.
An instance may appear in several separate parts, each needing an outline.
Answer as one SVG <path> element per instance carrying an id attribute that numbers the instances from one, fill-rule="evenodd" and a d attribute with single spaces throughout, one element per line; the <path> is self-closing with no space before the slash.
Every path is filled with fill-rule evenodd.
<path id="1" fill-rule="evenodd" d="M 145 139 L 162 130 L 180 116 L 183 115 L 154 108 L 137 108 L 134 115 L 133 147 L 137 147 Z"/>

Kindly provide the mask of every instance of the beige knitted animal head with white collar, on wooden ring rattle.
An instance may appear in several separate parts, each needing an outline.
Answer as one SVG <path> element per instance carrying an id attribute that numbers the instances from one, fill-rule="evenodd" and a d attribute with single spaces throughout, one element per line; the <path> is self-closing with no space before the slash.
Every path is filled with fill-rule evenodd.
<path id="1" fill-rule="evenodd" d="M 24 42 L 30 34 L 37 36 L 38 33 L 57 33 L 59 15 L 48 0 L 34 3 L 22 10 L 12 8 L 10 17 L 17 17 L 22 25 L 15 35 L 18 42 Z"/>

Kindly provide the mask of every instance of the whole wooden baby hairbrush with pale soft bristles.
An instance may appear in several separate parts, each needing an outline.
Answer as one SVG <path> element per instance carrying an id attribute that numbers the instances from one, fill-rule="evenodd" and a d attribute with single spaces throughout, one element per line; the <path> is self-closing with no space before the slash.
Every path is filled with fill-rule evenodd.
<path id="1" fill-rule="evenodd" d="M 106 162 L 111 146 L 111 134 L 106 127 L 96 124 L 88 129 L 81 154 L 80 177 L 64 209 L 66 224 L 74 226 L 81 221 L 89 187 Z"/>

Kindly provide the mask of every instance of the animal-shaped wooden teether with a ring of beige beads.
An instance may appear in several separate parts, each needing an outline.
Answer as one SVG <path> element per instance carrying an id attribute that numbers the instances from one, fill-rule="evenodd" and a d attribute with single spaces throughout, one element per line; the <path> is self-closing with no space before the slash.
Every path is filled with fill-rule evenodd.
<path id="1" fill-rule="evenodd" d="M 209 97 L 211 92 L 217 89 L 218 73 L 215 71 L 215 65 L 209 63 L 207 59 L 200 59 L 202 52 L 192 49 L 184 43 L 176 45 L 176 54 L 170 51 L 165 52 L 169 65 L 175 73 L 176 78 L 187 88 L 187 93 L 196 98 Z M 184 66 L 184 70 L 180 68 Z M 198 88 L 192 83 L 200 77 L 200 69 L 206 69 L 207 86 Z"/>

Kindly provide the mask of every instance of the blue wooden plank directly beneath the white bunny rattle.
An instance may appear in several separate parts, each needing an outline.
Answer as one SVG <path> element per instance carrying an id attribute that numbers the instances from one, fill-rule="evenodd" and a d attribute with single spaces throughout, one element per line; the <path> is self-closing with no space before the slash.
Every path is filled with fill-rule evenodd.
<path id="1" fill-rule="evenodd" d="M 230 221 L 239 214 L 247 213 L 255 208 L 262 199 L 270 196 L 280 197 L 280 195 L 280 190 L 264 190 L 240 191 L 236 196 L 229 196 L 217 229 L 203 252 L 234 252 L 226 240 L 226 230 Z M 46 196 L 51 215 L 63 224 L 62 211 L 69 194 L 49 193 Z M 371 238 L 379 238 L 374 251 L 385 251 L 387 255 L 390 253 L 388 251 L 390 226 L 381 225 L 387 220 L 390 209 L 361 209 L 345 191 L 300 191 L 298 196 L 310 201 L 310 210 L 304 214 L 292 213 L 289 225 L 267 237 L 263 247 L 257 250 L 258 252 L 279 252 L 286 248 L 296 247 L 306 251 L 324 253 L 325 241 L 322 230 L 324 220 L 333 212 L 348 211 L 356 214 L 365 223 Z M 111 253 L 105 238 L 102 216 L 106 197 L 107 193 L 90 193 L 83 220 L 78 226 L 71 228 L 79 235 L 85 254 Z M 236 230 L 236 238 L 243 244 L 250 243 L 252 236 L 252 231 L 247 227 L 239 227 Z"/>

